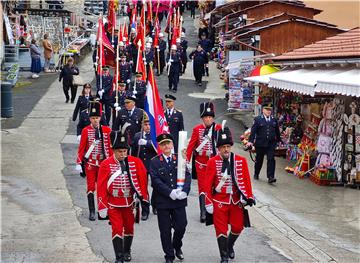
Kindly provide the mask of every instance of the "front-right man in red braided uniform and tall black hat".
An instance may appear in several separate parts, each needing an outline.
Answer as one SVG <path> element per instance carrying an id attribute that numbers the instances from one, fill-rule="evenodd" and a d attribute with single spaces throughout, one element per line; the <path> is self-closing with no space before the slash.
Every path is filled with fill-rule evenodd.
<path id="1" fill-rule="evenodd" d="M 246 158 L 232 153 L 232 145 L 231 132 L 223 125 L 217 132 L 219 153 L 206 168 L 206 211 L 213 214 L 221 263 L 235 258 L 234 243 L 244 226 L 249 226 L 246 222 L 250 222 L 244 206 L 255 205 Z"/>

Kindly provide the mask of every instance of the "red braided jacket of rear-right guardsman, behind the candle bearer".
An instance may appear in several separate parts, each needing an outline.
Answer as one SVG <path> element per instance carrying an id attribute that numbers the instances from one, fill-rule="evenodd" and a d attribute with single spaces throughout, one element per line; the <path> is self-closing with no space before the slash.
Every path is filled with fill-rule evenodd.
<path id="1" fill-rule="evenodd" d="M 221 129 L 221 125 L 215 124 L 215 131 Z M 198 124 L 193 128 L 191 139 L 186 150 L 186 160 L 190 161 L 192 154 L 196 148 L 205 140 L 204 136 L 205 125 Z M 216 132 L 213 131 L 212 140 L 216 141 Z M 204 147 L 197 153 L 195 153 L 195 160 L 201 164 L 206 164 L 211 156 L 214 156 L 216 152 L 213 152 L 212 141 L 209 140 Z M 216 146 L 215 146 L 216 149 Z M 216 151 L 216 150 L 215 150 Z"/>

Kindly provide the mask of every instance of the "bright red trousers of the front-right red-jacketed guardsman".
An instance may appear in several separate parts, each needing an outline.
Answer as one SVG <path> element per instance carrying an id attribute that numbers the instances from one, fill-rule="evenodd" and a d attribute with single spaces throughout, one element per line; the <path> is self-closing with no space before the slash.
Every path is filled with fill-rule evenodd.
<path id="1" fill-rule="evenodd" d="M 244 228 L 244 215 L 240 203 L 222 204 L 214 202 L 213 221 L 215 226 L 216 237 L 228 236 L 228 225 L 231 226 L 231 233 L 240 235 Z"/>

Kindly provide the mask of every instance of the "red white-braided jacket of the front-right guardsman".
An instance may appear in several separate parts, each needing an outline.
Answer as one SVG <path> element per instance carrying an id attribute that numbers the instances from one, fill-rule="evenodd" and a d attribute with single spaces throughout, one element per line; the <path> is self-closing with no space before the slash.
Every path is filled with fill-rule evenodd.
<path id="1" fill-rule="evenodd" d="M 240 155 L 231 155 L 234 158 L 233 161 L 230 161 L 230 164 L 233 164 L 235 182 L 233 182 L 231 176 L 228 176 L 219 192 L 217 192 L 215 188 L 223 177 L 221 174 L 223 159 L 220 155 L 216 155 L 208 161 L 205 185 L 206 204 L 211 204 L 212 202 L 222 204 L 230 204 L 232 202 L 233 204 L 237 204 L 241 199 L 239 190 L 241 190 L 246 198 L 254 199 L 246 159 Z"/>

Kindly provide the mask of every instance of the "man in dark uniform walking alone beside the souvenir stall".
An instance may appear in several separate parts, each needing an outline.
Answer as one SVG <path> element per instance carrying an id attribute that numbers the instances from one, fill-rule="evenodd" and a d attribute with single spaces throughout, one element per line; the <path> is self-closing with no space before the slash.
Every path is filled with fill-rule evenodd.
<path id="1" fill-rule="evenodd" d="M 259 179 L 260 170 L 267 156 L 267 178 L 268 183 L 276 182 L 275 179 L 275 148 L 276 144 L 281 140 L 280 130 L 277 120 L 271 116 L 272 105 L 263 104 L 262 115 L 254 120 L 251 128 L 251 134 L 247 147 L 255 146 L 256 161 L 254 179 Z"/>

